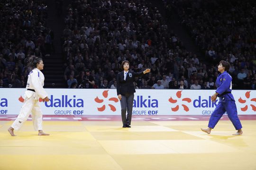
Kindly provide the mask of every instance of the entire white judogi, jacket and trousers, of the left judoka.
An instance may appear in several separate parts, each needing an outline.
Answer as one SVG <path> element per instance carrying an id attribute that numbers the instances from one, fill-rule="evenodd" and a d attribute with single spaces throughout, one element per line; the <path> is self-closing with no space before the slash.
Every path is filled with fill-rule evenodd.
<path id="1" fill-rule="evenodd" d="M 43 115 L 39 105 L 39 98 L 46 98 L 47 93 L 44 86 L 45 76 L 37 68 L 34 68 L 27 78 L 27 90 L 25 92 L 24 104 L 18 114 L 17 119 L 11 125 L 15 130 L 20 129 L 22 124 L 27 120 L 30 113 L 32 113 L 32 120 L 35 130 L 43 130 Z M 31 91 L 34 90 L 35 92 Z"/>

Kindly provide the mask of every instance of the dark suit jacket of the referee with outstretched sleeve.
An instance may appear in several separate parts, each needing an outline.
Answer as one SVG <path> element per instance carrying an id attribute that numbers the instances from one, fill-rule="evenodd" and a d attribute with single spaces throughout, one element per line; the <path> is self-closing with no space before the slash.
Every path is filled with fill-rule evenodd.
<path id="1" fill-rule="evenodd" d="M 124 80 L 124 71 L 119 72 L 117 75 L 117 94 L 127 95 L 135 93 L 135 88 L 133 85 L 134 78 L 136 76 L 143 76 L 143 71 L 135 73 L 133 71 L 128 71 L 126 80 Z"/>

